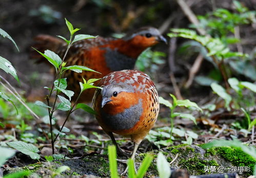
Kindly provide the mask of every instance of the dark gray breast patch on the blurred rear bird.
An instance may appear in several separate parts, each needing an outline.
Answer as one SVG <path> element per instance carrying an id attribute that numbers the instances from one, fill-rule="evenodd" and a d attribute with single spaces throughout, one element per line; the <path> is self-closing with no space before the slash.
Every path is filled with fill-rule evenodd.
<path id="1" fill-rule="evenodd" d="M 121 71 L 124 69 L 133 69 L 136 59 L 127 57 L 116 50 L 104 48 L 106 50 L 105 58 L 108 68 L 111 71 Z"/>

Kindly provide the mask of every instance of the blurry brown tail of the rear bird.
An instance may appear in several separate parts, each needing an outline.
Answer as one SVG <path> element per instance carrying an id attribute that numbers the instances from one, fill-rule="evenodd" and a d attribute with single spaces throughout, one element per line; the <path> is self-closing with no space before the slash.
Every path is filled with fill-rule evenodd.
<path id="1" fill-rule="evenodd" d="M 64 40 L 57 37 L 50 35 L 37 35 L 34 37 L 34 43 L 32 44 L 32 47 L 41 53 L 44 53 L 45 50 L 50 50 L 60 55 L 65 44 L 66 43 Z M 38 62 L 46 61 L 45 58 L 34 49 L 31 49 L 30 58 L 38 59 Z"/>

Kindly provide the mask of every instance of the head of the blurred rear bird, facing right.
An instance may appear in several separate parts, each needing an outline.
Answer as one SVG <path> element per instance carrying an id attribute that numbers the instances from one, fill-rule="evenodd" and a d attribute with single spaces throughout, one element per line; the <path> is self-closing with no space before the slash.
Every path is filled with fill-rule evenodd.
<path id="1" fill-rule="evenodd" d="M 160 31 L 153 27 L 140 28 L 135 32 L 127 34 L 123 39 L 130 40 L 134 46 L 145 49 L 160 41 L 167 43 L 167 40 L 161 35 Z"/>

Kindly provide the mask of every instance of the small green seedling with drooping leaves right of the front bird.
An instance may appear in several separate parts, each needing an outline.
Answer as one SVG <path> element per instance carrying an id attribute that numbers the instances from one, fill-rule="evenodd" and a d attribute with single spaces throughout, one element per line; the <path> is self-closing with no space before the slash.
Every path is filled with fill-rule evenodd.
<path id="1" fill-rule="evenodd" d="M 186 100 L 177 100 L 174 95 L 170 94 L 170 96 L 173 99 L 173 103 L 170 103 L 168 100 L 165 100 L 163 97 L 159 97 L 159 103 L 166 105 L 171 110 L 171 114 L 170 114 L 170 120 L 171 120 L 170 134 L 172 135 L 173 119 L 174 119 L 174 117 L 178 116 L 178 117 L 181 117 L 181 118 L 187 118 L 187 119 L 192 120 L 194 122 L 194 124 L 196 124 L 195 118 L 191 114 L 187 114 L 187 113 L 174 113 L 174 109 L 177 106 L 183 106 L 183 107 L 186 107 L 186 108 L 188 108 L 190 110 L 199 110 L 201 112 L 202 112 L 202 109 L 196 103 L 191 102 L 188 99 L 186 99 Z"/>

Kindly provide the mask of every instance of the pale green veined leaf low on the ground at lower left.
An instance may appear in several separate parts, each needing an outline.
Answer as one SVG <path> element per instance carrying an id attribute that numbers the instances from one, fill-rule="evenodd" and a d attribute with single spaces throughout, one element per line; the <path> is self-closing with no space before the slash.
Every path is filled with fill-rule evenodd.
<path id="1" fill-rule="evenodd" d="M 37 153 L 39 151 L 38 148 L 30 143 L 25 143 L 22 141 L 15 141 L 15 142 L 8 142 L 7 144 L 9 146 L 15 148 L 16 150 L 29 155 L 30 158 L 32 158 L 34 160 L 40 159 L 40 155 Z"/>

